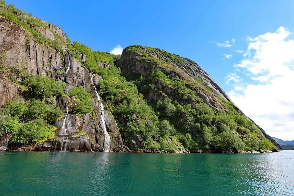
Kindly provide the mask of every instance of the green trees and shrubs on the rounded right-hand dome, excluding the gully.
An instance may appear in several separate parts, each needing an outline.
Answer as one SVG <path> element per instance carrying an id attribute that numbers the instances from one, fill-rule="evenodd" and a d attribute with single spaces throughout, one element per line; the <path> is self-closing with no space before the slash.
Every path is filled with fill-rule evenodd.
<path id="1" fill-rule="evenodd" d="M 158 48 L 135 45 L 127 48 L 127 51 L 131 50 L 143 54 L 134 58 L 135 61 L 149 61 L 158 69 L 145 78 L 133 74 L 125 75 L 126 78 L 133 81 L 144 97 L 150 97 L 152 94 L 161 97 L 168 91 L 169 98 L 157 102 L 151 98 L 151 102 L 147 104 L 152 106 L 159 120 L 167 120 L 173 125 L 175 131 L 172 136 L 182 142 L 185 148 L 234 151 L 275 148 L 250 119 L 235 110 L 232 103 L 219 98 L 228 108 L 228 112 L 225 110 L 217 112 L 203 103 L 195 92 L 197 88 L 193 88 L 195 81 L 204 86 L 201 79 L 195 78 L 193 82 L 187 74 L 183 75 L 181 70 L 168 64 L 171 60 L 181 67 L 181 62 L 186 63 L 186 59 Z M 156 52 L 157 58 L 148 56 L 148 53 L 154 55 L 153 52 Z M 162 56 L 168 59 L 164 60 Z M 175 72 L 177 75 L 174 74 Z M 211 89 L 207 90 L 211 92 Z M 247 139 L 241 139 L 241 135 L 236 131 L 237 127 L 244 132 L 242 138 L 248 137 Z M 191 139 L 187 139 L 188 135 Z M 259 142 L 260 138 L 262 139 Z"/>

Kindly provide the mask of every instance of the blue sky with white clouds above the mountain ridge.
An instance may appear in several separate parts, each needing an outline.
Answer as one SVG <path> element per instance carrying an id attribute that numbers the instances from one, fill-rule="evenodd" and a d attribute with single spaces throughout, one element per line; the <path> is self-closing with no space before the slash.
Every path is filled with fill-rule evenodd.
<path id="1" fill-rule="evenodd" d="M 294 140 L 294 95 L 278 88 L 279 82 L 294 82 L 289 75 L 294 51 L 287 53 L 293 49 L 294 1 L 6 0 L 10 3 L 93 50 L 140 44 L 190 58 L 270 135 Z M 274 88 L 279 96 L 271 94 L 277 94 Z"/>

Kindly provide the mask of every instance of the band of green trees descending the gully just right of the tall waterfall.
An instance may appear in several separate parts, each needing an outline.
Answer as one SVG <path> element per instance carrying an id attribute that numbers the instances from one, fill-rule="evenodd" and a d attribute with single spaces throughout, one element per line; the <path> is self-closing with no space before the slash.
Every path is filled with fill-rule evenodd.
<path id="1" fill-rule="evenodd" d="M 138 93 L 136 86 L 121 77 L 120 70 L 113 64 L 113 59 L 118 56 L 91 51 L 91 48 L 77 42 L 73 46 L 87 56 L 83 65 L 103 78 L 99 82 L 99 90 L 106 106 L 118 120 L 126 141 L 141 135 L 147 148 L 168 150 L 173 146 L 173 150 L 177 149 L 170 142 L 166 144 L 169 135 L 175 132 L 174 127 L 166 120 L 159 121 L 152 108 L 146 105 L 143 95 Z M 87 60 L 88 57 L 90 58 Z M 99 67 L 99 62 L 107 63 L 109 68 Z"/>

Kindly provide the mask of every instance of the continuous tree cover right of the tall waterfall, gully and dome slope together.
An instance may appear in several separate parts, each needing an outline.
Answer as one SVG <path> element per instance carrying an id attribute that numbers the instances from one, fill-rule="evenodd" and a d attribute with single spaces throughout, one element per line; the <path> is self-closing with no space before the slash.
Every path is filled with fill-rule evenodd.
<path id="1" fill-rule="evenodd" d="M 178 150 L 176 141 L 189 150 L 259 149 L 258 140 L 252 140 L 252 137 L 260 138 L 262 133 L 249 119 L 240 115 L 225 100 L 229 112 L 213 110 L 188 88 L 186 80 L 175 76 L 171 70 L 157 69 L 146 78 L 126 75 L 128 80 L 133 80 L 131 83 L 113 65 L 116 56 L 94 52 L 78 42 L 74 42 L 73 47 L 90 57 L 83 65 L 103 78 L 98 85 L 99 91 L 118 120 L 126 141 L 141 135 L 146 148 L 150 149 Z M 140 52 L 145 53 L 142 48 Z M 99 66 L 101 62 L 110 68 Z M 166 88 L 172 91 L 171 98 L 151 103 L 143 100 L 150 92 L 159 95 Z M 240 138 L 236 132 L 238 126 L 250 135 L 248 140 Z M 171 138 L 174 139 L 172 142 Z"/>

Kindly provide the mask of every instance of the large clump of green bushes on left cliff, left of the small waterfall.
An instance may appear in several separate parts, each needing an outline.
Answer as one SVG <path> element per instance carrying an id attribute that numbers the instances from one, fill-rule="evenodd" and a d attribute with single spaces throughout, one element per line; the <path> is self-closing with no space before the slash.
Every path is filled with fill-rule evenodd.
<path id="1" fill-rule="evenodd" d="M 42 143 L 54 138 L 53 125 L 64 114 L 56 99 L 63 96 L 65 83 L 41 76 L 24 76 L 24 98 L 16 97 L 0 108 L 0 135 L 13 133 L 18 145 Z"/>

